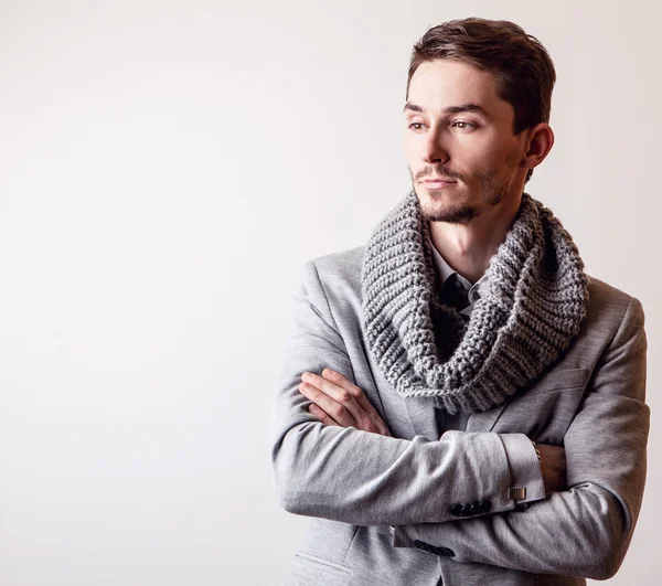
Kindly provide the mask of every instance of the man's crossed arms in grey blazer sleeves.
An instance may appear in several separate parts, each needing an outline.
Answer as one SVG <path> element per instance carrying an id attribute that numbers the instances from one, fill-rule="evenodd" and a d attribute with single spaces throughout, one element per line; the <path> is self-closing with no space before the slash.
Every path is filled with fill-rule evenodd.
<path id="1" fill-rule="evenodd" d="M 420 540 L 452 548 L 457 562 L 597 579 L 616 573 L 645 478 L 647 343 L 639 300 L 630 299 L 565 436 L 569 488 L 515 512 L 499 434 L 448 431 L 436 441 L 407 440 L 389 437 L 376 419 L 374 429 L 364 430 L 325 425 L 320 413 L 308 411 L 311 403 L 299 390 L 303 372 L 329 367 L 353 382 L 353 367 L 313 263 L 293 299 L 271 419 L 274 473 L 286 510 L 396 525 L 394 546 Z M 488 498 L 490 514 L 458 521 L 448 511 L 450 502 Z"/>

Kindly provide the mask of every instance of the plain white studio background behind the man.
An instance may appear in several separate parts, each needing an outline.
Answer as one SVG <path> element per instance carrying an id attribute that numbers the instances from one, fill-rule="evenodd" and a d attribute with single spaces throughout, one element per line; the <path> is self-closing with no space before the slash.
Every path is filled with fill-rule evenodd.
<path id="1" fill-rule="evenodd" d="M 662 10 L 514 0 L 0 2 L 0 584 L 280 582 L 290 296 L 405 195 L 412 45 L 469 15 L 548 49 L 526 191 L 643 303 L 648 486 L 610 584 L 659 584 Z"/>

